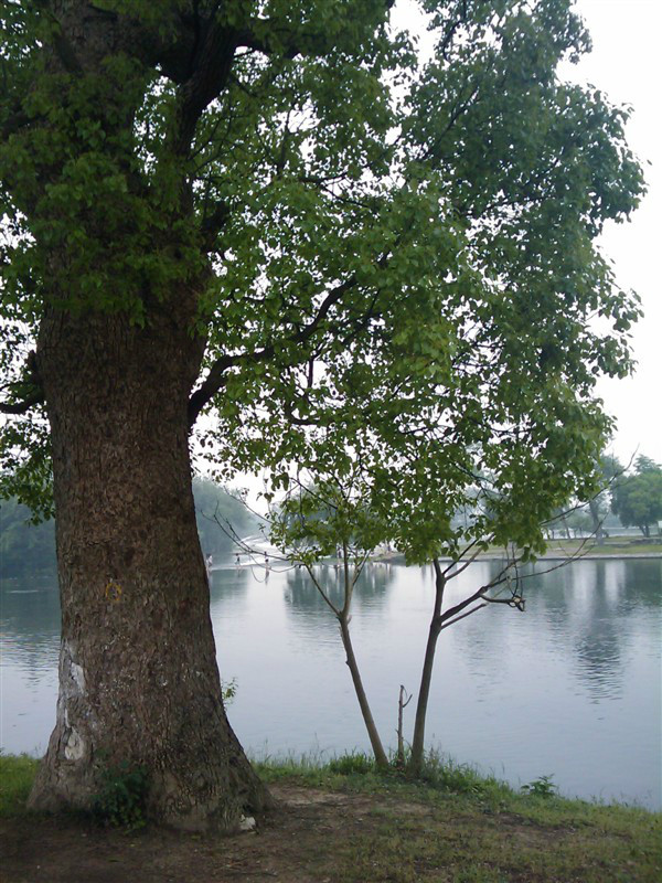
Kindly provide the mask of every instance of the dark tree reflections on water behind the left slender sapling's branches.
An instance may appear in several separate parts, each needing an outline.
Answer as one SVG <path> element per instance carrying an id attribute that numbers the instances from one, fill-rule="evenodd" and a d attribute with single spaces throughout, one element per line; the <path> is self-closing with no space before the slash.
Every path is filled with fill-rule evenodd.
<path id="1" fill-rule="evenodd" d="M 327 597 L 340 608 L 344 603 L 344 582 L 341 567 L 321 564 L 316 567 L 316 575 L 327 592 Z M 389 564 L 366 564 L 359 577 L 352 597 L 352 609 L 359 614 L 362 607 L 380 609 L 386 600 L 386 589 L 394 581 L 394 571 Z M 285 599 L 288 609 L 307 620 L 314 620 L 316 628 L 324 631 L 338 631 L 338 621 L 327 603 L 317 591 L 306 567 L 295 567 L 287 573 Z"/>

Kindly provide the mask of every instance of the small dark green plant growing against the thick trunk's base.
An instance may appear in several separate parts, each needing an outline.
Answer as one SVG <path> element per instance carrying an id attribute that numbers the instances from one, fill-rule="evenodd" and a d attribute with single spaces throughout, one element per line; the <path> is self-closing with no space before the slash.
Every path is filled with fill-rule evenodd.
<path id="1" fill-rule="evenodd" d="M 149 775 L 145 767 L 122 760 L 102 772 L 102 788 L 93 813 L 105 825 L 135 831 L 147 825 Z"/>

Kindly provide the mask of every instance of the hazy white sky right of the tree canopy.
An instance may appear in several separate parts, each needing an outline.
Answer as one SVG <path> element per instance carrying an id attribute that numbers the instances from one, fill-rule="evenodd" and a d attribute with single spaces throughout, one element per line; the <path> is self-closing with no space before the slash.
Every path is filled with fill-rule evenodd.
<path id="1" fill-rule="evenodd" d="M 564 74 L 602 89 L 633 114 L 627 134 L 645 164 L 649 192 L 626 225 L 612 224 L 602 251 L 617 278 L 642 299 L 644 318 L 632 334 L 637 373 L 604 380 L 599 392 L 618 418 L 615 451 L 629 459 L 634 449 L 662 462 L 662 0 L 577 0 L 594 51 Z"/>

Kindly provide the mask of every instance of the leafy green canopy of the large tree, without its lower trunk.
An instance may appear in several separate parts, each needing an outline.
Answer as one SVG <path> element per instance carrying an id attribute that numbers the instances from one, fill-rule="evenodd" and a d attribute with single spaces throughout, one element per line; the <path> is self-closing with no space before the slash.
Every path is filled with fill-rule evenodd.
<path id="1" fill-rule="evenodd" d="M 639 304 L 596 246 L 644 190 L 628 113 L 558 78 L 589 46 L 569 0 L 426 0 L 426 64 L 389 7 L 105 0 L 87 42 L 58 7 L 6 4 L 8 405 L 41 389 L 25 357 L 50 311 L 150 329 L 185 291 L 223 478 L 342 486 L 360 464 L 361 543 L 535 555 L 595 492 L 597 377 L 631 369 Z M 30 506 L 40 407 L 2 430 Z"/>

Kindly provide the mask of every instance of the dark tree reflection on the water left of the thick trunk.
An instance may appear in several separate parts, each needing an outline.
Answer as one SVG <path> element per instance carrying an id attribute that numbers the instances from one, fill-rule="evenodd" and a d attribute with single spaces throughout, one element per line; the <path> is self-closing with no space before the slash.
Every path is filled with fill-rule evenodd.
<path id="1" fill-rule="evenodd" d="M 0 586 L 0 623 L 6 664 L 28 669 L 31 679 L 57 669 L 60 593 L 57 579 L 7 579 Z"/>

